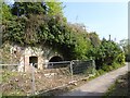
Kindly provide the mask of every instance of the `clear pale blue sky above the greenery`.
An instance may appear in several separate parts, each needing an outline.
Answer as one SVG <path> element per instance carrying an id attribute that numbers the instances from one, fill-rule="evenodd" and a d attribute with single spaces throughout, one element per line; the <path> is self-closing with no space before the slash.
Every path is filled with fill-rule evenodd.
<path id="1" fill-rule="evenodd" d="M 96 32 L 102 39 L 128 38 L 128 2 L 64 2 L 64 15 L 68 22 L 86 25 L 88 32 Z"/>

